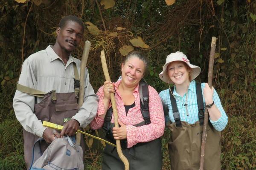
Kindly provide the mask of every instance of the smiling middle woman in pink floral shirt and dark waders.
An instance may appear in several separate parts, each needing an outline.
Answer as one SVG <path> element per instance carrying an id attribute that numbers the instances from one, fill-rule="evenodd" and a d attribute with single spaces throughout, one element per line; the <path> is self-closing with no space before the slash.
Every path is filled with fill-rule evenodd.
<path id="1" fill-rule="evenodd" d="M 160 137 L 164 132 L 164 114 L 161 99 L 157 91 L 148 86 L 148 111 L 150 122 L 145 122 L 141 113 L 139 84 L 147 68 L 145 57 L 139 52 L 128 54 L 122 63 L 122 79 L 117 82 L 104 82 L 99 88 L 98 112 L 90 126 L 99 129 L 103 126 L 106 138 L 114 142 L 121 140 L 122 151 L 129 161 L 130 170 L 161 170 L 162 150 Z M 115 93 L 120 127 L 106 125 L 107 111 L 111 111 L 110 93 Z M 106 117 L 105 117 L 106 116 Z M 113 127 L 113 129 L 112 129 Z M 106 145 L 103 152 L 103 170 L 123 170 L 116 148 Z"/>

